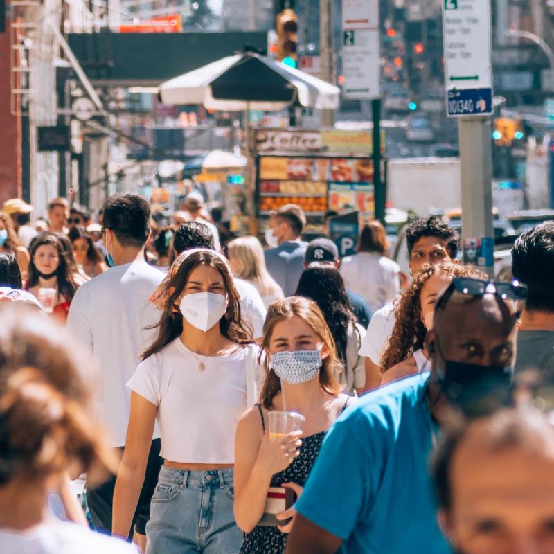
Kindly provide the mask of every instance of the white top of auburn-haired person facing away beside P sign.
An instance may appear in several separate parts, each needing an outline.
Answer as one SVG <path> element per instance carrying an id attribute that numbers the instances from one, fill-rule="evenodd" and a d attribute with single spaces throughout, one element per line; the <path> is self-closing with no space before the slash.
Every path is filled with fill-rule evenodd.
<path id="1" fill-rule="evenodd" d="M 360 252 L 341 262 L 341 275 L 348 289 L 364 296 L 375 314 L 400 292 L 400 267 L 377 252 Z"/>

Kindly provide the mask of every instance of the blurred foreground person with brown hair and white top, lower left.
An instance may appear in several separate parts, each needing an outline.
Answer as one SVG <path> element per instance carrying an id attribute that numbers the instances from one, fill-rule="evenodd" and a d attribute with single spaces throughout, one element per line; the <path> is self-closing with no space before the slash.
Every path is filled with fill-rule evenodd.
<path id="1" fill-rule="evenodd" d="M 57 325 L 10 304 L 0 304 L 0 551 L 131 554 L 48 515 L 48 495 L 68 472 L 101 481 L 117 461 L 89 417 L 86 357 Z"/>

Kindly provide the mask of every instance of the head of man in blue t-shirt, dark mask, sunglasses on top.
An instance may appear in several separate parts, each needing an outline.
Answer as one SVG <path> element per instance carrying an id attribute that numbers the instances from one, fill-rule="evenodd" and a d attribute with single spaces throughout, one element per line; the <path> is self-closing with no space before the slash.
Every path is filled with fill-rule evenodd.
<path id="1" fill-rule="evenodd" d="M 472 418 L 510 402 L 518 305 L 525 296 L 519 284 L 456 278 L 438 299 L 427 335 L 436 419 L 453 406 Z"/>

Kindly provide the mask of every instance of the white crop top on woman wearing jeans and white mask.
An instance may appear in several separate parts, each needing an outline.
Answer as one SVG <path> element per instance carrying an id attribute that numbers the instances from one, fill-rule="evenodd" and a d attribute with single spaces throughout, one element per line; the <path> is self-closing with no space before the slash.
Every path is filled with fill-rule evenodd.
<path id="1" fill-rule="evenodd" d="M 177 338 L 141 362 L 127 386 L 158 406 L 162 458 L 177 463 L 235 463 L 238 420 L 258 401 L 259 349 L 248 345 L 231 355 L 204 360 L 194 357 Z"/>

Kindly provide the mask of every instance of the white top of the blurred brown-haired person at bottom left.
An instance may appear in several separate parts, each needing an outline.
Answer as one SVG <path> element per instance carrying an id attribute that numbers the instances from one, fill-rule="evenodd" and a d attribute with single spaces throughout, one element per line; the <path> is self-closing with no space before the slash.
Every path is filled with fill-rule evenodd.
<path id="1" fill-rule="evenodd" d="M 0 529 L 2 554 L 138 554 L 122 539 L 65 521 L 47 521 L 26 531 Z"/>

